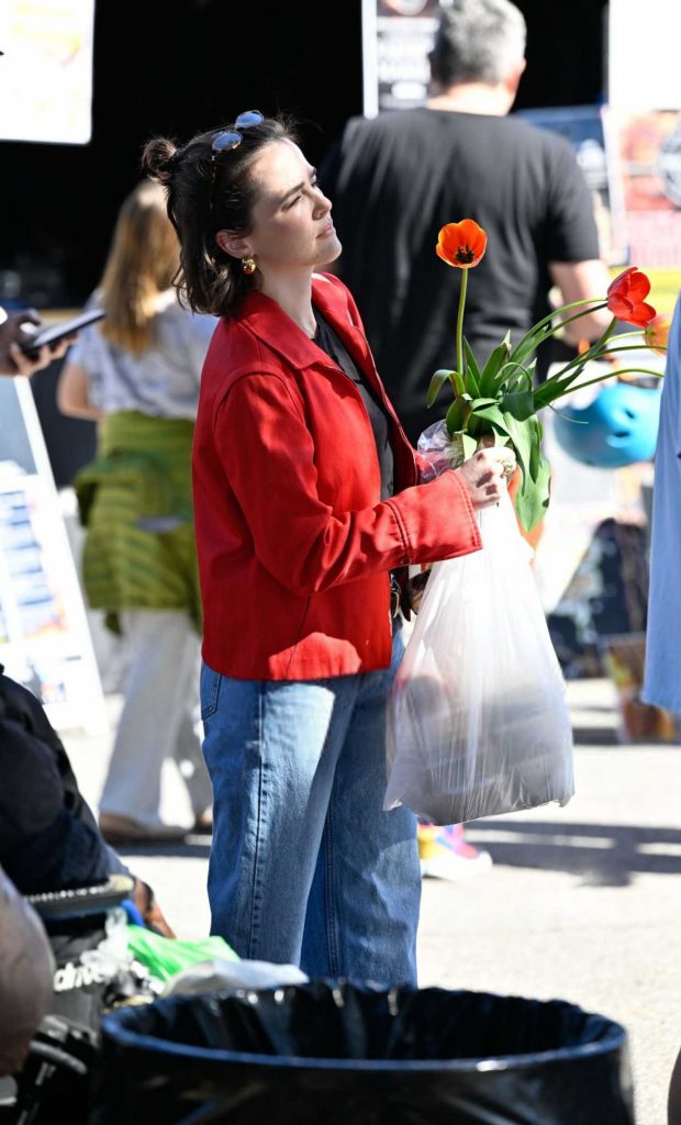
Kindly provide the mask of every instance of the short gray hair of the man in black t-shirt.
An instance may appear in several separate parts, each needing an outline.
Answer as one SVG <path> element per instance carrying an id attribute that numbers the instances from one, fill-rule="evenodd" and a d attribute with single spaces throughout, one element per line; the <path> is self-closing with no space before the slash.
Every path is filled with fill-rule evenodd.
<path id="1" fill-rule="evenodd" d="M 525 57 L 526 40 L 525 16 L 510 0 L 452 0 L 440 14 L 432 76 L 443 87 L 496 86 Z"/>

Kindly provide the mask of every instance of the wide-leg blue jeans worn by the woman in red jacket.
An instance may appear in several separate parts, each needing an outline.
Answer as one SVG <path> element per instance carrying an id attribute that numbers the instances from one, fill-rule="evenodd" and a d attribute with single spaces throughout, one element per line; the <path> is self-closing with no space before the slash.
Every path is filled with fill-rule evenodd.
<path id="1" fill-rule="evenodd" d="M 384 672 L 250 681 L 204 664 L 212 933 L 312 979 L 416 984 L 416 818 L 383 811 Z"/>

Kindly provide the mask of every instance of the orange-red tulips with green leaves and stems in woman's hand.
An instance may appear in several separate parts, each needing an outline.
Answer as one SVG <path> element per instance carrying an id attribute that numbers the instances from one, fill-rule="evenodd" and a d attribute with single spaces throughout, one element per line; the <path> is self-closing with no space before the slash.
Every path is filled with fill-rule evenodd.
<path id="1" fill-rule="evenodd" d="M 475 452 L 481 440 L 512 447 L 521 472 L 516 493 L 516 511 L 522 526 L 530 531 L 548 506 L 550 469 L 541 453 L 539 411 L 552 406 L 575 388 L 588 363 L 611 360 L 620 352 L 637 351 L 633 342 L 639 332 L 612 334 L 618 321 L 644 330 L 644 342 L 656 351 L 664 350 L 664 326 L 648 305 L 648 278 L 636 267 L 629 267 L 615 278 L 602 298 L 577 300 L 562 305 L 535 324 L 514 345 L 509 334 L 480 363 L 464 335 L 464 309 L 468 270 L 483 258 L 487 236 L 471 218 L 448 223 L 439 233 L 436 252 L 448 266 L 463 271 L 456 324 L 456 369 L 436 371 L 428 388 L 427 404 L 432 406 L 445 384 L 449 384 L 454 402 L 446 416 L 449 456 L 456 467 Z M 539 344 L 558 328 L 577 321 L 598 308 L 609 308 L 612 320 L 599 340 L 575 356 L 539 386 L 535 386 L 536 352 Z M 598 378 L 580 382 L 581 387 L 600 382 L 611 375 L 658 376 L 643 367 L 611 367 Z"/>

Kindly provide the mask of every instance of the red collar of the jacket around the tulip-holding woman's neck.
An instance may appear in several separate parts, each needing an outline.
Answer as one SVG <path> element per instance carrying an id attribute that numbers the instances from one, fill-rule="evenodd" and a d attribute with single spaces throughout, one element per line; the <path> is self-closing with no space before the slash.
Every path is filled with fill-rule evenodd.
<path id="1" fill-rule="evenodd" d="M 339 292 L 332 281 L 315 274 L 312 278 L 312 300 L 341 336 L 355 361 L 365 372 L 371 374 L 373 363 L 367 342 L 364 333 L 350 320 L 344 295 Z M 236 321 L 294 367 L 305 368 L 320 363 L 335 366 L 276 300 L 257 290 L 249 294 Z"/>

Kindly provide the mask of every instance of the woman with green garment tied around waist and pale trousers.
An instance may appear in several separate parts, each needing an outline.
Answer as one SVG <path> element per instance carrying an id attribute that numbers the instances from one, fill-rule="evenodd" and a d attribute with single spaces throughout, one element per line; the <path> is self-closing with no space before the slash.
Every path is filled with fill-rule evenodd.
<path id="1" fill-rule="evenodd" d="M 212 790 L 198 735 L 200 597 L 191 442 L 212 316 L 172 288 L 177 235 L 162 189 L 144 180 L 119 210 L 98 290 L 100 324 L 83 328 L 61 372 L 57 405 L 96 418 L 98 457 L 73 485 L 84 525 L 89 604 L 122 633 L 127 680 L 99 827 L 114 845 L 181 840 L 161 816 L 161 773 L 174 759 L 199 831 Z"/>

